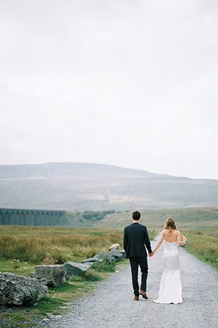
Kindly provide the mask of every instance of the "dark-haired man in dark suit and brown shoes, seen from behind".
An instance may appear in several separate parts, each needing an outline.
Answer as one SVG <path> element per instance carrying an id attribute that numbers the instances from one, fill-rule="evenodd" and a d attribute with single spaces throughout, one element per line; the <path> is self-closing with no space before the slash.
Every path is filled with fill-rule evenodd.
<path id="1" fill-rule="evenodd" d="M 132 272 L 132 282 L 134 290 L 134 300 L 138 300 L 138 296 L 142 295 L 147 299 L 146 283 L 147 283 L 147 252 L 152 253 L 150 240 L 147 234 L 145 225 L 138 223 L 140 221 L 140 212 L 133 212 L 133 223 L 124 229 L 123 248 L 126 252 L 126 257 L 129 257 Z M 138 266 L 140 266 L 142 279 L 139 291 L 138 286 Z"/>

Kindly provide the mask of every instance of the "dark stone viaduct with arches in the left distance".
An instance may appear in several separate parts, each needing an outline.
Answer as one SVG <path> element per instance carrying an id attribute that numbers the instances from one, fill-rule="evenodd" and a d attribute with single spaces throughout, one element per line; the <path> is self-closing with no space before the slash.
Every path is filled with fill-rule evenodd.
<path id="1" fill-rule="evenodd" d="M 0 209 L 0 225 L 56 225 L 65 211 Z"/>

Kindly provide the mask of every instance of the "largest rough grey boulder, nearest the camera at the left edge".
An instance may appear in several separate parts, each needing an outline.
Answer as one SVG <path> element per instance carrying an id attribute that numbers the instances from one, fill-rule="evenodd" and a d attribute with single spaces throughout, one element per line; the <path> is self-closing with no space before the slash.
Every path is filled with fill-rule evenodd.
<path id="1" fill-rule="evenodd" d="M 0 305 L 25 305 L 32 300 L 42 300 L 47 286 L 34 278 L 0 273 Z"/>

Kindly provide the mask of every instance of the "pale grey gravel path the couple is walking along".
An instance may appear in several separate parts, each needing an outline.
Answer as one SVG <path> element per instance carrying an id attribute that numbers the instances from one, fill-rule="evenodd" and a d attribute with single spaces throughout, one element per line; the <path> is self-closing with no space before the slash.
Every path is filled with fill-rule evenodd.
<path id="1" fill-rule="evenodd" d="M 152 248 L 155 245 L 156 242 L 152 242 Z M 152 302 L 158 296 L 163 249 L 162 245 L 155 256 L 149 259 L 149 300 L 140 297 L 138 302 L 133 301 L 130 266 L 124 266 L 119 273 L 100 282 L 90 295 L 80 299 L 66 317 L 53 318 L 40 324 L 40 327 L 217 328 L 218 273 L 181 248 L 179 256 L 183 304 L 162 305 Z"/>

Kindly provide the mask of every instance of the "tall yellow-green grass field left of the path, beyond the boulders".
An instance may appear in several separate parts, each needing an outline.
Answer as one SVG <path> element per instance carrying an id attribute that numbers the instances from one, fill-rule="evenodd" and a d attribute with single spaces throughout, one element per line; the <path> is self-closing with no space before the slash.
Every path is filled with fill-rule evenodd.
<path id="1" fill-rule="evenodd" d="M 1 225 L 0 259 L 42 264 L 49 254 L 55 264 L 80 262 L 122 240 L 123 230 Z"/>

